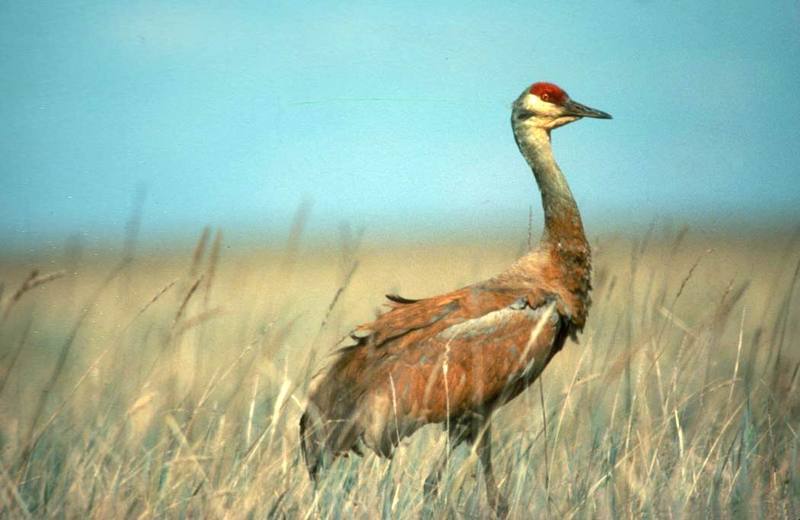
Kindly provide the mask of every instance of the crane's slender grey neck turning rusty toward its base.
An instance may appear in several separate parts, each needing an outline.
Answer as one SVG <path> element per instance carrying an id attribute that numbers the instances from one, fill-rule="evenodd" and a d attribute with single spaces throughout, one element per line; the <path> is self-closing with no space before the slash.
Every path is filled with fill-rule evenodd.
<path id="1" fill-rule="evenodd" d="M 560 242 L 575 238 L 585 242 L 578 205 L 567 179 L 553 158 L 549 131 L 513 118 L 512 127 L 517 146 L 533 170 L 542 193 L 545 222 L 543 240 Z"/>

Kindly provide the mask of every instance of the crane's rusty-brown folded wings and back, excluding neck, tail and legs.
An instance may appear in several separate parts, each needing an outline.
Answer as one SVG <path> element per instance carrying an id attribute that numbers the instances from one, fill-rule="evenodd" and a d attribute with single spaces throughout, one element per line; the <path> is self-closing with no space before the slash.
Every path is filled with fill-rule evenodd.
<path id="1" fill-rule="evenodd" d="M 309 400 L 329 425 L 334 452 L 363 438 L 390 453 L 420 424 L 513 398 L 568 329 L 558 296 L 530 284 L 490 281 L 434 298 L 389 300 L 389 310 L 356 328 L 355 344 L 339 349 L 312 382 Z M 396 389 L 393 401 L 387 384 Z"/>

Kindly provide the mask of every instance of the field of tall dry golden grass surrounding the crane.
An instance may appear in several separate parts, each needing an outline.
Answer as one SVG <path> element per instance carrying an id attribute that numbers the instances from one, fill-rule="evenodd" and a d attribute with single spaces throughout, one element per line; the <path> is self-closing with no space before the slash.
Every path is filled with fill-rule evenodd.
<path id="1" fill-rule="evenodd" d="M 657 235 L 595 244 L 580 344 L 498 414 L 511 515 L 800 518 L 800 244 Z M 466 450 L 424 503 L 437 427 L 391 463 L 342 459 L 315 495 L 297 420 L 309 365 L 382 293 L 453 289 L 522 244 L 326 251 L 295 236 L 235 251 L 221 237 L 122 263 L 0 259 L 0 284 L 25 288 L 0 300 L 0 516 L 487 516 Z M 68 274 L 29 274 L 44 265 Z"/>

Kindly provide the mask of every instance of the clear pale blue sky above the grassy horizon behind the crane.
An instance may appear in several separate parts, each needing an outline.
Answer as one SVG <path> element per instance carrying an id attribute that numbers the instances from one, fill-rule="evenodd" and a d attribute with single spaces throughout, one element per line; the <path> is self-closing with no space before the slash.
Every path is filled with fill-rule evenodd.
<path id="1" fill-rule="evenodd" d="M 763 1 L 0 5 L 0 236 L 205 224 L 524 229 L 511 101 L 553 81 L 613 121 L 554 147 L 599 233 L 800 219 L 800 6 Z"/>

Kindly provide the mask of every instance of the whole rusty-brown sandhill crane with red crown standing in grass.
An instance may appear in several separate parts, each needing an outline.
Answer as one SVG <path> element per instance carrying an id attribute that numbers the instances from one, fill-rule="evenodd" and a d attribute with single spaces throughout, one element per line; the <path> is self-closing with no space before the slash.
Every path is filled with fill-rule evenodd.
<path id="1" fill-rule="evenodd" d="M 551 130 L 583 117 L 611 119 L 552 83 L 534 83 L 513 104 L 511 126 L 542 195 L 540 243 L 499 275 L 448 294 L 409 300 L 357 327 L 354 344 L 311 383 L 300 440 L 312 480 L 323 464 L 364 446 L 391 457 L 400 440 L 446 423 L 450 449 L 479 455 L 487 498 L 507 504 L 492 472 L 490 416 L 541 374 L 586 323 L 590 249 L 578 207 L 553 158 Z M 445 454 L 447 455 L 447 454 Z M 442 464 L 425 482 L 435 490 Z"/>

